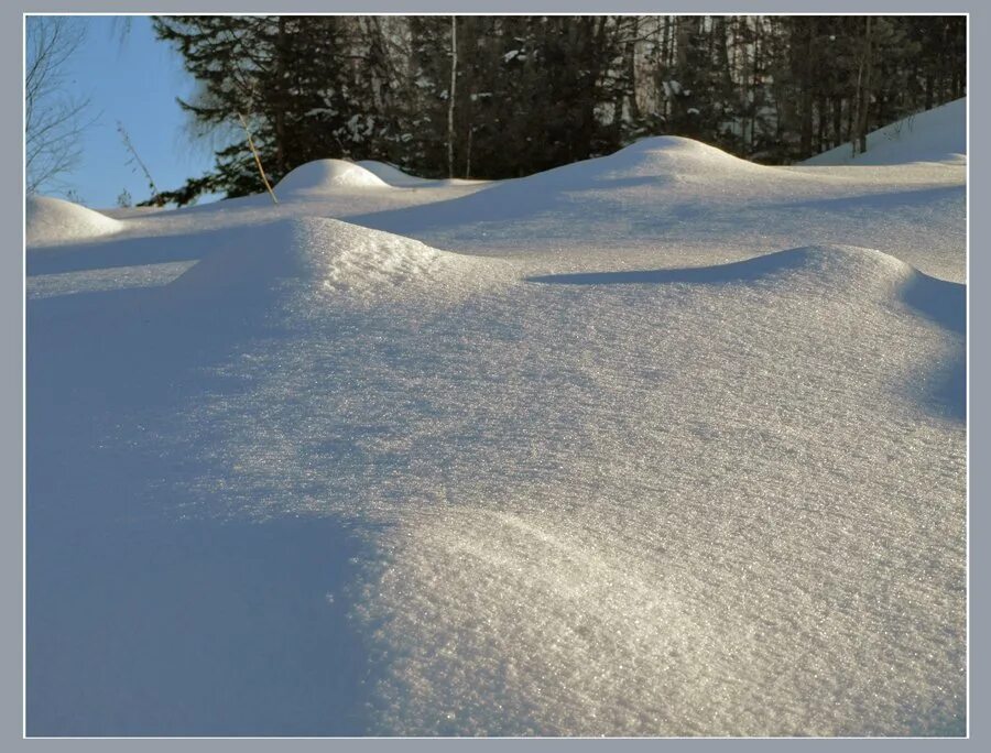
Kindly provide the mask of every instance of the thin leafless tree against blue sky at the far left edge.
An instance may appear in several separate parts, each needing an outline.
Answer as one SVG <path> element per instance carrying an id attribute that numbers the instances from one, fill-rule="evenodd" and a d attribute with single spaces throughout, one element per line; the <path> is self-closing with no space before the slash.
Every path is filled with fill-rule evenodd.
<path id="1" fill-rule="evenodd" d="M 89 100 L 69 88 L 66 74 L 83 44 L 74 19 L 28 17 L 24 62 L 24 160 L 29 194 L 63 187 L 61 179 L 83 155 L 79 135 Z"/>

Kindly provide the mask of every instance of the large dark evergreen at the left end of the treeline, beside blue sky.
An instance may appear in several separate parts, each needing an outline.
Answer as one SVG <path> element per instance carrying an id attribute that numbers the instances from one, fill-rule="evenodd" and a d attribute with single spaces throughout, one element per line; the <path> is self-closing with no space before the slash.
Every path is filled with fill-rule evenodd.
<path id="1" fill-rule="evenodd" d="M 179 106 L 204 133 L 243 116 L 252 145 L 230 138 L 214 171 L 165 192 L 185 203 L 200 189 L 228 196 L 264 190 L 257 162 L 277 182 L 319 159 L 380 157 L 391 122 L 377 24 L 359 17 L 155 17 L 200 89 Z M 258 152 L 258 160 L 253 151 Z"/>

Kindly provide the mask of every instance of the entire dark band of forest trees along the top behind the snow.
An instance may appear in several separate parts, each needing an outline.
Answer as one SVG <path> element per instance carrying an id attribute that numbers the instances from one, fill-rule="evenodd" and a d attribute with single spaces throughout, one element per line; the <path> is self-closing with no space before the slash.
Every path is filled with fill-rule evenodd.
<path id="1" fill-rule="evenodd" d="M 220 135 L 215 168 L 153 197 L 264 189 L 305 162 L 374 159 L 505 178 L 644 135 L 787 164 L 962 97 L 956 17 L 155 17 Z"/>

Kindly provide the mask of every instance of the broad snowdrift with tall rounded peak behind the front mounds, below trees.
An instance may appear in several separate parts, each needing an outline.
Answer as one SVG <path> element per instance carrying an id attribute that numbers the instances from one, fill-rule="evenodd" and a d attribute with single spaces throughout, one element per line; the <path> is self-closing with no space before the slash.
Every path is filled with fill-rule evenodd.
<path id="1" fill-rule="evenodd" d="M 661 257 L 669 265 L 743 259 L 814 239 L 883 249 L 960 282 L 963 174 L 952 163 L 769 167 L 689 139 L 655 137 L 449 201 L 352 219 L 443 249 L 525 253 L 567 249 L 577 239 L 617 260 Z"/>

